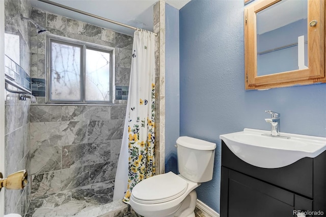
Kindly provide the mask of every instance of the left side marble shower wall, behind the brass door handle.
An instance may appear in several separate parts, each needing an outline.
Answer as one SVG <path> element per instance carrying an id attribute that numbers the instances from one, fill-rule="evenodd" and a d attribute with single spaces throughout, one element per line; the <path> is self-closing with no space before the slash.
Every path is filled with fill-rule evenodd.
<path id="1" fill-rule="evenodd" d="M 20 47 L 18 50 L 6 50 L 5 53 L 15 58 L 24 73 L 30 75 L 30 23 L 20 19 L 20 14 L 30 17 L 31 5 L 26 0 L 5 0 L 5 32 L 18 36 L 19 46 L 7 41 L 6 48 Z M 17 43 L 17 42 L 16 42 Z M 3 87 L 3 86 L 2 86 Z M 30 139 L 29 139 L 29 111 L 30 100 L 18 100 L 18 94 L 6 92 L 5 101 L 5 177 L 13 172 L 26 169 L 30 173 Z M 1 102 L 3 103 L 3 102 Z M 4 171 L 2 171 L 4 172 Z M 19 213 L 24 215 L 30 202 L 31 177 L 23 190 L 5 191 L 5 214 Z"/>

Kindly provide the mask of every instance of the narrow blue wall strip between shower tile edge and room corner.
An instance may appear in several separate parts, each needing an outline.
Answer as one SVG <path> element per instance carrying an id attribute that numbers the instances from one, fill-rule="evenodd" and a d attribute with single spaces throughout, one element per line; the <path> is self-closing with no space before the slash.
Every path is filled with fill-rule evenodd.
<path id="1" fill-rule="evenodd" d="M 177 173 L 177 152 L 174 144 L 180 131 L 179 101 L 179 10 L 166 4 L 166 98 L 165 156 L 166 172 Z"/>

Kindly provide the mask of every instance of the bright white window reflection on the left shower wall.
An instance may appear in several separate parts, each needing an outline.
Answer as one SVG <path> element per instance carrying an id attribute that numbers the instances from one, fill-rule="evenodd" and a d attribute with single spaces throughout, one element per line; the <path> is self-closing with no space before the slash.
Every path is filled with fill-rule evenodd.
<path id="1" fill-rule="evenodd" d="M 20 64 L 19 35 L 5 33 L 5 55 Z"/>

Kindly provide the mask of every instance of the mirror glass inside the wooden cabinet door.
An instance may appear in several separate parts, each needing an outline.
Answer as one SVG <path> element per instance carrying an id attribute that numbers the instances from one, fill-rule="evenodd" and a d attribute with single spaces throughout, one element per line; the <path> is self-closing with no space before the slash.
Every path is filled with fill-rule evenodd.
<path id="1" fill-rule="evenodd" d="M 256 17 L 257 76 L 308 67 L 307 0 L 282 0 Z"/>

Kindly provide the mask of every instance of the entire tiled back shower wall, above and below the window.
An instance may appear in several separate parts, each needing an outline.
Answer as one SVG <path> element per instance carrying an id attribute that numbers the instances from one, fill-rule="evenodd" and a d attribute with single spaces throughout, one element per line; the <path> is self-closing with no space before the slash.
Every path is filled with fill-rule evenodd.
<path id="1" fill-rule="evenodd" d="M 115 178 L 126 112 L 133 38 L 39 9 L 32 18 L 50 34 L 115 47 L 115 105 L 31 106 L 32 196 Z M 45 90 L 45 35 L 31 38 L 31 77 Z M 32 80 L 32 83 L 33 83 Z M 40 93 L 40 90 L 37 94 Z"/>

